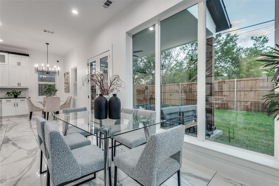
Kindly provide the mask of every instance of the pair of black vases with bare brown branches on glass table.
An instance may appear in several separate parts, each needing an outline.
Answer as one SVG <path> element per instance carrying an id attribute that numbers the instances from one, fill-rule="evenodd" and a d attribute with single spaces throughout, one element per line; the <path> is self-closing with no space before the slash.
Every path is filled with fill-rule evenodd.
<path id="1" fill-rule="evenodd" d="M 117 93 L 120 89 L 125 90 L 125 83 L 120 79 L 119 75 L 113 75 L 109 82 L 105 82 L 105 76 L 102 72 L 88 73 L 82 78 L 82 85 L 88 85 L 91 81 L 95 82 L 95 87 L 100 91 L 99 96 L 94 102 L 94 117 L 96 119 L 120 119 L 121 102 L 120 99 L 113 94 L 113 96 L 107 101 L 103 95 L 110 95 Z M 104 86 L 108 84 L 108 87 Z M 95 88 L 93 87 L 93 89 Z M 91 92 L 92 87 L 91 87 Z"/>

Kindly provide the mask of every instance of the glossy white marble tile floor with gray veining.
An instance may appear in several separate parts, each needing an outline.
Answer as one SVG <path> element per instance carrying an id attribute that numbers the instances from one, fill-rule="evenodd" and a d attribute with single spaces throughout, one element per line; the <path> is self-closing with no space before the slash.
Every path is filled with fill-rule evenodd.
<path id="1" fill-rule="evenodd" d="M 45 186 L 46 173 L 40 175 L 40 149 L 37 142 L 36 117 L 40 113 L 33 113 L 32 120 L 28 117 L 0 119 L 0 185 L 5 186 Z M 53 117 L 49 118 L 60 130 L 62 122 Z M 90 136 L 92 144 L 96 139 Z M 129 148 L 119 145 L 116 154 Z M 111 154 L 111 151 L 110 153 Z M 43 162 L 43 167 L 46 167 Z M 247 184 L 222 175 L 193 162 L 183 160 L 180 170 L 181 186 L 246 186 Z M 112 182 L 114 182 L 114 165 L 112 165 Z M 87 178 L 83 178 L 87 179 Z M 177 174 L 171 176 L 162 186 L 177 185 Z M 86 182 L 84 186 L 99 186 L 103 184 L 103 170 L 96 174 L 96 179 Z M 73 183 L 75 184 L 75 183 Z M 73 185 L 69 184 L 69 185 Z M 120 169 L 117 170 L 117 185 L 138 186 L 133 179 Z"/>

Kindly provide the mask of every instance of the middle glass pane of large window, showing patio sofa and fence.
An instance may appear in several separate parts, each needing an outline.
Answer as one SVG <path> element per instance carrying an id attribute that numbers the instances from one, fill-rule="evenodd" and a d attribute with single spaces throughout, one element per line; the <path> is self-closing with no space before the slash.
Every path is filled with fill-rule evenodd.
<path id="1" fill-rule="evenodd" d="M 197 136 L 197 5 L 161 21 L 161 128 Z"/>

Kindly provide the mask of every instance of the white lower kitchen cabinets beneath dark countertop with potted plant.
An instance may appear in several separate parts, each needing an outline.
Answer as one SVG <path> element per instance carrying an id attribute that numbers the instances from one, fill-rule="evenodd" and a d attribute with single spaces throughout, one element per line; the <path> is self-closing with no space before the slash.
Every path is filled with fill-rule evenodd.
<path id="1" fill-rule="evenodd" d="M 25 98 L 2 99 L 2 116 L 25 115 L 29 113 Z"/>

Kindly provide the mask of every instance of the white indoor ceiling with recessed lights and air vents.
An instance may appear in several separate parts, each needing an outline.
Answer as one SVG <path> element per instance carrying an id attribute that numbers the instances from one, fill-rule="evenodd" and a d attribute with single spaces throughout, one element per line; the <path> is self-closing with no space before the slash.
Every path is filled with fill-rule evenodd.
<path id="1" fill-rule="evenodd" d="M 132 1 L 114 0 L 109 9 L 105 0 L 0 1 L 1 46 L 65 55 L 76 43 L 89 37 Z M 73 14 L 72 10 L 78 11 Z M 54 31 L 44 33 L 42 29 Z"/>

